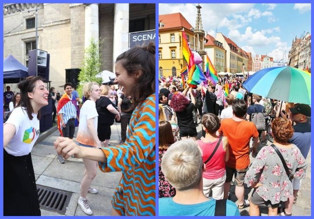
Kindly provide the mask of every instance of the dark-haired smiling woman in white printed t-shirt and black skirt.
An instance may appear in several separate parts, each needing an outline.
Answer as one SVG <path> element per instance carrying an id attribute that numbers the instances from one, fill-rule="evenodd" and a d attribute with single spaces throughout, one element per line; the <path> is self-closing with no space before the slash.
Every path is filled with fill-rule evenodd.
<path id="1" fill-rule="evenodd" d="M 40 76 L 18 84 L 21 106 L 3 124 L 3 215 L 40 216 L 30 152 L 39 136 L 40 109 L 49 91 Z"/>

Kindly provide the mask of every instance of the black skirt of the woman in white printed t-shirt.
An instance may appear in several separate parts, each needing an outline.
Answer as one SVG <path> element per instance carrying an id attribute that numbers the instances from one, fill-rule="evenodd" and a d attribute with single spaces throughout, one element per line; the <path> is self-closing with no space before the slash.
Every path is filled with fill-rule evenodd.
<path id="1" fill-rule="evenodd" d="M 3 215 L 41 216 L 30 153 L 13 156 L 3 149 Z"/>

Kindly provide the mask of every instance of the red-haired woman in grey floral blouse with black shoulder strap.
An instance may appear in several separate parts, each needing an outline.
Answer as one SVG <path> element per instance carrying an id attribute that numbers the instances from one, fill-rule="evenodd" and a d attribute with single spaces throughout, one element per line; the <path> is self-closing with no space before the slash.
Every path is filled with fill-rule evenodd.
<path id="1" fill-rule="evenodd" d="M 275 118 L 271 123 L 274 145 L 283 155 L 289 174 L 304 178 L 307 164 L 300 150 L 288 143 L 293 128 L 287 118 Z M 268 207 L 268 216 L 277 216 L 280 201 L 287 201 L 293 195 L 292 183 L 283 163 L 272 146 L 265 146 L 246 172 L 244 183 L 253 187 L 250 199 L 250 216 L 260 216 L 259 206 Z"/>

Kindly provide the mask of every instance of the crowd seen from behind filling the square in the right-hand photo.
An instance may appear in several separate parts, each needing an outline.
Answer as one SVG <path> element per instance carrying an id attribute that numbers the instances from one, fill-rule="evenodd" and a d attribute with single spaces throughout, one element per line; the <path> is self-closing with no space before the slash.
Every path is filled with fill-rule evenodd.
<path id="1" fill-rule="evenodd" d="M 224 215 L 248 207 L 250 216 L 260 216 L 260 207 L 269 216 L 292 215 L 307 170 L 311 107 L 250 93 L 245 80 L 221 77 L 183 87 L 181 77 L 159 78 L 159 215 L 213 216 L 222 200 Z M 160 120 L 166 111 L 171 118 Z M 232 182 L 235 202 L 229 200 Z M 251 188 L 248 199 L 244 187 Z"/>

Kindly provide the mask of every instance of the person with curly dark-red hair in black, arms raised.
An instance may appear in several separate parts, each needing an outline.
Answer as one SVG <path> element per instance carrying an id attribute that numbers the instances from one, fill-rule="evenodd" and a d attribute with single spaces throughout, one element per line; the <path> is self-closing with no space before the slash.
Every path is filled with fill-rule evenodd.
<path id="1" fill-rule="evenodd" d="M 190 93 L 191 103 L 185 97 L 187 91 Z M 174 94 L 171 98 L 170 107 L 176 112 L 178 126 L 182 139 L 191 137 L 196 140 L 197 131 L 193 121 L 193 110 L 195 106 L 195 98 L 192 93 L 192 88 L 185 88 L 182 94 Z"/>

